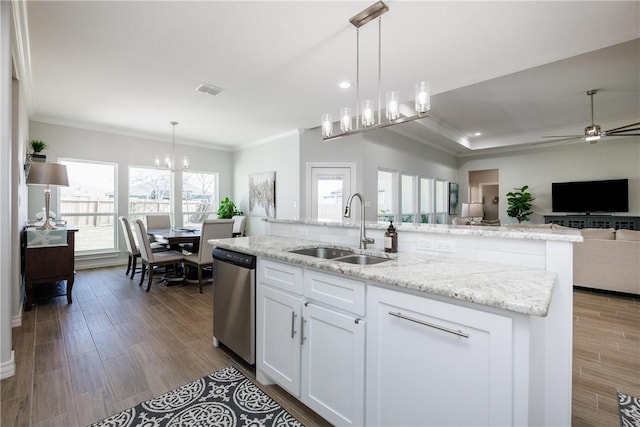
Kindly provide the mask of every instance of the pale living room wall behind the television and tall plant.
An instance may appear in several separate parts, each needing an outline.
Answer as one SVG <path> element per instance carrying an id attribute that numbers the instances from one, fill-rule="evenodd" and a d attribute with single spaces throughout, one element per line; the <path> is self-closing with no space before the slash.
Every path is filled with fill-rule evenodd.
<path id="1" fill-rule="evenodd" d="M 640 143 L 635 138 L 609 139 L 598 144 L 578 143 L 510 154 L 464 157 L 459 160 L 460 194 L 466 194 L 469 171 L 499 169 L 500 220 L 507 216 L 506 193 L 529 185 L 535 201 L 533 223 L 551 214 L 551 183 L 616 178 L 629 179 L 629 215 L 640 215 Z M 623 215 L 623 214 L 621 214 Z"/>

